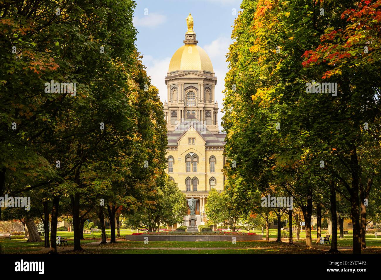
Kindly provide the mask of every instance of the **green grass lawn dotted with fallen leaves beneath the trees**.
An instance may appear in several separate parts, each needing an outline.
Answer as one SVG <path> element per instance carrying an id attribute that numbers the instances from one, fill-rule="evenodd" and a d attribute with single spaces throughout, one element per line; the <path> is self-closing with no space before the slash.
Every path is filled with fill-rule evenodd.
<path id="1" fill-rule="evenodd" d="M 136 230 L 134 231 L 136 232 Z M 251 231 L 252 232 L 252 231 Z M 257 234 L 261 234 L 261 230 L 255 230 Z M 338 248 L 341 253 L 351 253 L 352 246 L 352 230 L 349 230 L 349 235 L 344 238 L 338 238 Z M 110 234 L 110 230 L 106 230 L 106 234 Z M 96 241 L 100 241 L 100 232 L 93 235 L 84 234 L 85 240 L 81 240 L 81 245 L 85 250 L 83 253 L 89 254 L 310 254 L 310 253 L 325 253 L 330 249 L 330 245 L 314 245 L 314 249 L 306 249 L 305 247 L 305 232 L 301 232 L 300 239 L 294 238 L 294 244 L 288 244 L 288 238 L 283 238 L 281 243 L 274 242 L 270 239 L 270 242 L 266 241 L 242 241 L 233 244 L 231 242 L 144 242 L 139 241 L 126 241 L 124 236 L 126 234 L 132 234 L 131 230 L 120 230 L 121 237 L 117 243 L 93 245 L 88 244 Z M 57 232 L 57 235 L 66 237 L 69 246 L 61 246 L 62 253 L 73 253 L 70 251 L 73 245 L 74 233 L 61 231 Z M 323 236 L 325 231 L 323 231 Z M 43 247 L 43 242 L 27 243 L 23 239 L 24 236 L 12 236 L 11 240 L 6 238 L 0 239 L 0 246 L 2 253 L 45 253 L 46 250 Z M 265 238 L 265 235 L 263 236 Z M 277 230 L 270 229 L 270 238 L 277 237 Z M 312 240 L 316 240 L 316 231 L 312 232 Z M 70 242 L 71 241 L 71 242 Z M 381 253 L 381 238 L 375 238 L 374 234 L 367 234 L 367 249 L 363 250 L 363 253 Z M 142 249 L 136 249 L 142 248 Z M 147 249 L 145 249 L 147 248 Z M 152 249 L 148 249 L 152 248 Z M 160 248 L 160 249 L 154 249 Z M 174 249 L 170 249 L 174 248 Z M 180 249 L 175 249 L 180 248 Z M 181 250 L 181 248 L 192 248 L 187 250 Z M 204 249 L 203 249 L 204 248 Z M 205 248 L 210 248 L 205 249 Z M 223 249 L 215 249 L 223 248 Z"/>

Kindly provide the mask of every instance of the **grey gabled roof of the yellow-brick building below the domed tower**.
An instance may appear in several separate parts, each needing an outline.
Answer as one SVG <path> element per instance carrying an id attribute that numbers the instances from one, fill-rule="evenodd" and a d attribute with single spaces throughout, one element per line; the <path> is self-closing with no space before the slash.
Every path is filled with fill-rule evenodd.
<path id="1" fill-rule="evenodd" d="M 189 117 L 182 121 L 172 132 L 167 133 L 168 146 L 178 146 L 179 139 L 191 128 L 191 126 L 204 139 L 205 146 L 223 146 L 226 134 L 211 133 L 207 127 L 195 117 Z"/>

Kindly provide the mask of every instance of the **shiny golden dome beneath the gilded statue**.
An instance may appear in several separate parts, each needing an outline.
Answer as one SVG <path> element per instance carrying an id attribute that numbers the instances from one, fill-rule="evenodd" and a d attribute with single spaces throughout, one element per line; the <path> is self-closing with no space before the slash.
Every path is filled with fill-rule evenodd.
<path id="1" fill-rule="evenodd" d="M 206 51 L 195 44 L 181 46 L 172 56 L 168 72 L 177 70 L 205 70 L 213 72 L 213 65 Z"/>

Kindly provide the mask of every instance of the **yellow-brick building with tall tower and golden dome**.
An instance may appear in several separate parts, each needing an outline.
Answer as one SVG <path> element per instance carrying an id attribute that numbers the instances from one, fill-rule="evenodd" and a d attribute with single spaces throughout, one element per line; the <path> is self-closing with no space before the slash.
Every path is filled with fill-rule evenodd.
<path id="1" fill-rule="evenodd" d="M 188 25 L 183 42 L 173 54 L 165 77 L 168 90 L 168 103 L 164 104 L 168 130 L 166 172 L 187 198 L 198 199 L 195 209 L 198 226 L 207 220 L 205 205 L 211 188 L 219 192 L 224 189 L 226 134 L 220 133 L 218 128 L 217 77 L 208 54 L 197 45 L 193 24 L 192 28 Z M 187 223 L 185 216 L 184 225 Z"/>

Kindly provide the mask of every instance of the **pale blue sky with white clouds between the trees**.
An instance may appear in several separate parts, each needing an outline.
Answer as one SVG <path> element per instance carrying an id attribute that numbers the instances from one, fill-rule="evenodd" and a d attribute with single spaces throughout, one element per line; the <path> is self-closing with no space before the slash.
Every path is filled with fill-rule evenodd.
<path id="1" fill-rule="evenodd" d="M 209 55 L 217 76 L 215 101 L 218 102 L 218 125 L 221 127 L 224 78 L 227 68 L 226 54 L 232 43 L 234 19 L 241 0 L 137 0 L 133 23 L 138 29 L 136 45 L 143 55 L 143 64 L 152 84 L 159 90 L 160 99 L 167 100 L 164 77 L 171 57 L 184 45 L 187 32 L 186 18 L 194 20 L 197 40 Z"/>

